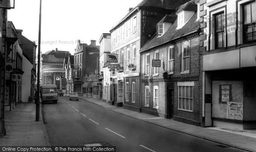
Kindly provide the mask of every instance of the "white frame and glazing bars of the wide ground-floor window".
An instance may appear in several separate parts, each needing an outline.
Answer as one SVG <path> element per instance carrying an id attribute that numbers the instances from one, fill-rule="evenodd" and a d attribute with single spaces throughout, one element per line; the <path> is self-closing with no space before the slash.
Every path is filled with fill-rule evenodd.
<path id="1" fill-rule="evenodd" d="M 177 82 L 177 89 L 178 89 L 178 110 L 183 110 L 183 111 L 187 111 L 187 112 L 193 112 L 194 109 L 194 86 L 195 83 L 194 81 L 185 81 L 185 82 Z M 180 92 L 180 87 L 185 87 L 185 95 L 183 95 L 183 88 L 181 88 L 181 92 Z M 187 97 L 187 92 L 186 92 L 186 88 L 189 87 L 189 95 Z M 190 87 L 192 87 L 192 96 L 191 96 L 191 90 Z M 183 101 L 183 98 L 185 100 L 185 102 Z M 189 100 L 189 109 L 186 109 L 186 100 Z M 191 103 L 190 100 L 192 100 L 192 109 L 191 109 Z M 181 102 L 181 103 L 180 103 Z M 185 103 L 185 109 L 183 109 L 183 103 Z M 181 107 L 180 107 L 181 106 Z"/>

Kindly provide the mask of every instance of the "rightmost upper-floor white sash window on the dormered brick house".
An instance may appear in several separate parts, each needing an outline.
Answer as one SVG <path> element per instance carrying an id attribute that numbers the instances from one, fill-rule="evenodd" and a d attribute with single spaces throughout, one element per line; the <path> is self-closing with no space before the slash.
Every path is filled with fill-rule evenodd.
<path id="1" fill-rule="evenodd" d="M 190 42 L 182 43 L 182 72 L 189 73 L 189 60 L 190 60 Z"/>

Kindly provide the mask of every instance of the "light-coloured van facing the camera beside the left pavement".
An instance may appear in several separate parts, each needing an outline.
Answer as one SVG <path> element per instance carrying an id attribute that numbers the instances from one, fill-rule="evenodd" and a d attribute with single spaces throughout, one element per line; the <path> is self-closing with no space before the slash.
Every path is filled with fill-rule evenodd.
<path id="1" fill-rule="evenodd" d="M 41 86 L 41 99 L 44 102 L 55 102 L 58 101 L 57 86 L 56 85 L 42 85 Z"/>

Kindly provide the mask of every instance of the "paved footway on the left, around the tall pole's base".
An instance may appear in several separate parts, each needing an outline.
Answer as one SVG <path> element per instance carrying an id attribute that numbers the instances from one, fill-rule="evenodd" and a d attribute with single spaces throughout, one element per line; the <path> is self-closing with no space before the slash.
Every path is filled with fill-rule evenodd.
<path id="1" fill-rule="evenodd" d="M 44 127 L 41 104 L 40 121 L 35 121 L 35 102 L 17 103 L 5 112 L 6 135 L 0 136 L 0 146 L 50 146 Z"/>

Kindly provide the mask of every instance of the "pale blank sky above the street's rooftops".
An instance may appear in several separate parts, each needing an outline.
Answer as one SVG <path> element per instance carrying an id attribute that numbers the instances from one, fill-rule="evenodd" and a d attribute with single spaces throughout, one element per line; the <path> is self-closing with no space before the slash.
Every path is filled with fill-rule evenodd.
<path id="1" fill-rule="evenodd" d="M 102 33 L 109 33 L 141 0 L 42 0 L 41 52 L 49 50 L 75 52 L 77 40 L 90 44 Z M 15 0 L 8 10 L 8 20 L 23 36 L 38 45 L 40 0 Z"/>

